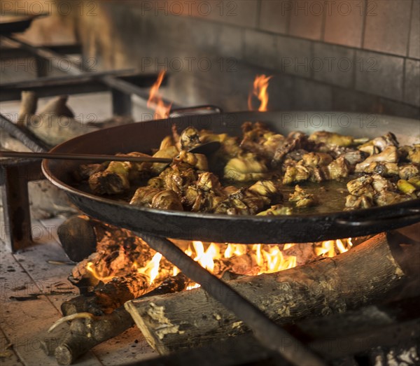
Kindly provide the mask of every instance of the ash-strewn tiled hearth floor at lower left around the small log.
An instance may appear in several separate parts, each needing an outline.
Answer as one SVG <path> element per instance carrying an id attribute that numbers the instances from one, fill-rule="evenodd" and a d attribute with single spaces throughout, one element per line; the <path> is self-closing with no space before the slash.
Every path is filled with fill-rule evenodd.
<path id="1" fill-rule="evenodd" d="M 62 302 L 78 295 L 67 280 L 73 265 L 62 264 L 69 262 L 57 237 L 62 220 L 33 221 L 36 245 L 15 254 L 6 247 L 5 225 L 0 225 L 0 365 L 57 365 L 53 356 L 45 355 L 40 340 L 61 318 Z M 75 365 L 124 365 L 155 356 L 158 354 L 133 327 L 94 347 Z"/>

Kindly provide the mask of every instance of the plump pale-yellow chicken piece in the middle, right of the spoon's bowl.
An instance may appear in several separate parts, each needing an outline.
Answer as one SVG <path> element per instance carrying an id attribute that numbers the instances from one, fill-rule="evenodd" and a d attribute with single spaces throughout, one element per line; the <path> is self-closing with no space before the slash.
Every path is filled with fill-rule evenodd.
<path id="1" fill-rule="evenodd" d="M 254 153 L 244 153 L 228 161 L 223 177 L 230 181 L 256 181 L 265 178 L 267 171 L 265 162 Z"/>

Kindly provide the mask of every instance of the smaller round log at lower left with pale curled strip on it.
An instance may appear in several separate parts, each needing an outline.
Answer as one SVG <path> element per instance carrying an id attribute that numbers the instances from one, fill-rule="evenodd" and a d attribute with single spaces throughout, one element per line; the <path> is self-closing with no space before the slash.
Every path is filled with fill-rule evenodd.
<path id="1" fill-rule="evenodd" d="M 155 288 L 141 297 L 176 293 L 184 290 L 187 285 L 188 278 L 179 273 L 176 276 L 169 277 L 158 286 L 158 288 Z M 119 290 L 118 286 L 113 286 L 112 288 L 117 288 L 117 290 Z M 111 288 L 109 289 L 111 290 Z M 123 296 L 127 295 L 123 294 Z M 108 298 L 109 297 L 107 296 L 106 299 Z M 81 303 L 82 302 L 80 302 L 80 304 Z M 113 302 L 112 305 L 116 306 L 116 304 L 118 304 L 118 302 Z M 76 308 L 74 308 L 73 311 L 76 311 Z M 55 358 L 59 365 L 70 365 L 76 358 L 83 355 L 94 346 L 97 346 L 97 344 L 116 337 L 134 325 L 132 317 L 127 313 L 124 307 L 118 307 L 118 309 L 104 316 L 94 316 L 86 312 L 73 313 L 60 319 L 59 322 L 52 326 L 52 329 L 68 320 L 71 320 L 69 332 L 64 333 L 64 336 L 54 351 Z M 50 330 L 52 329 L 50 328 Z M 51 353 L 48 346 L 46 348 L 47 351 Z"/>

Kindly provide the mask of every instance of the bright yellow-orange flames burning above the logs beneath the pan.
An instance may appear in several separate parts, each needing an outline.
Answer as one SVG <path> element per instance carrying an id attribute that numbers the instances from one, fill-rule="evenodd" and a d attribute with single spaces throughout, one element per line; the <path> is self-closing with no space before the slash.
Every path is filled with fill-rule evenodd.
<path id="1" fill-rule="evenodd" d="M 222 276 L 226 271 L 235 274 L 264 274 L 279 272 L 299 265 L 299 244 L 221 244 L 203 243 L 202 241 L 191 241 L 185 248 L 184 253 L 198 262 L 209 272 Z M 340 253 L 349 251 L 353 246 L 351 238 L 321 241 L 314 244 L 304 244 L 314 258 L 334 257 Z M 139 267 L 133 262 L 128 272 L 143 274 L 148 283 L 158 286 L 159 280 L 166 276 L 179 274 L 178 267 L 171 268 L 161 266 L 162 254 L 155 253 L 151 260 Z M 313 258 L 312 258 L 313 260 Z M 300 263 L 302 264 L 302 262 Z M 86 269 L 97 279 L 109 282 L 114 276 L 101 276 L 95 269 L 92 262 L 88 262 Z M 164 273 L 165 272 L 165 273 Z M 200 287 L 197 283 L 188 286 L 188 289 Z"/>

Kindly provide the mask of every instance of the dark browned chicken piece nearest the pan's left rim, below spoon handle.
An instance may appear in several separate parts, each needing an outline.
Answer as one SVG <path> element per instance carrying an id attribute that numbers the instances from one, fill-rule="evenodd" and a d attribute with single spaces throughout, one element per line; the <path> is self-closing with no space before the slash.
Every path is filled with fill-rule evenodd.
<path id="1" fill-rule="evenodd" d="M 104 171 L 92 174 L 89 187 L 97 195 L 118 195 L 130 188 L 130 162 L 110 162 Z"/>

